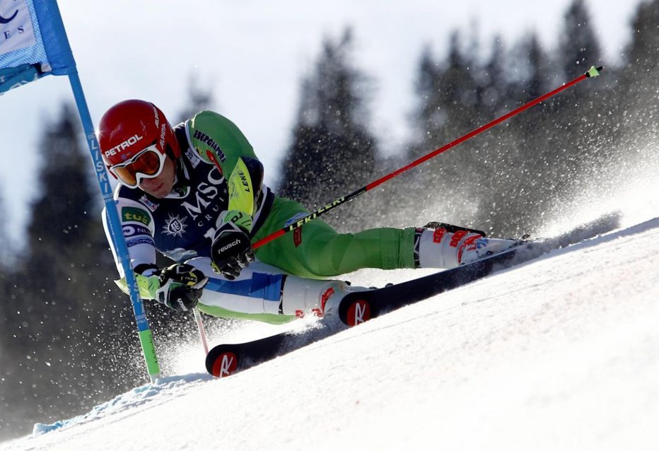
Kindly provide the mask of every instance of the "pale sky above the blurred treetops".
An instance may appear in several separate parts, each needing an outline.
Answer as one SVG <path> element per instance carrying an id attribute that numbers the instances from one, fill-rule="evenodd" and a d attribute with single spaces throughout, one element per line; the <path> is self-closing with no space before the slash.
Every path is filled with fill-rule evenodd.
<path id="1" fill-rule="evenodd" d="M 616 62 L 629 42 L 639 0 L 586 0 L 605 57 Z M 185 106 L 194 72 L 212 86 L 216 110 L 255 146 L 273 182 L 291 137 L 302 76 L 324 36 L 354 28 L 355 61 L 373 76 L 373 131 L 387 153 L 402 149 L 414 106 L 421 48 L 445 49 L 451 30 L 476 25 L 511 45 L 537 30 L 556 46 L 571 0 L 59 0 L 93 120 L 113 103 L 144 98 L 170 117 Z M 42 124 L 72 95 L 67 78 L 47 77 L 0 96 L 0 194 L 18 238 L 33 199 Z M 443 143 L 438 143 L 438 145 Z M 431 150 L 431 149 L 429 149 Z M 363 183 L 370 180 L 364 180 Z M 63 180 L 62 182 L 67 182 Z M 71 181 L 74 182 L 74 181 Z M 328 193 L 328 200 L 345 193 Z M 100 194 L 99 194 L 100 195 Z"/>

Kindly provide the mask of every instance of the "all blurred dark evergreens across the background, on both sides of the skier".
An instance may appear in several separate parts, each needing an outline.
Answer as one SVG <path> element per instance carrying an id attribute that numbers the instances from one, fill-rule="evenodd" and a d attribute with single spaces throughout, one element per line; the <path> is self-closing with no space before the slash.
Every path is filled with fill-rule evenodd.
<path id="1" fill-rule="evenodd" d="M 656 170 L 656 158 L 644 149 L 659 141 L 657 23 L 659 0 L 643 2 L 622 64 L 396 177 L 328 220 L 343 230 L 439 220 L 515 236 L 565 214 L 593 186 L 606 196 L 636 168 Z M 455 30 L 443 56 L 431 45 L 419 49 L 414 140 L 398 158 L 383 158 L 369 127 L 373 78 L 353 61 L 353 44 L 350 30 L 326 39 L 301 84 L 279 192 L 310 209 L 605 64 L 583 0 L 566 11 L 551 52 L 530 33 L 510 47 L 495 38 L 482 59 L 476 43 Z M 211 103 L 211 94 L 193 85 L 184 114 Z M 25 251 L 0 264 L 0 438 L 26 433 L 35 421 L 81 414 L 144 383 L 132 311 L 112 283 L 98 188 L 71 107 L 46 124 L 38 152 L 41 194 L 31 206 Z M 2 225 L 0 219 L 4 243 Z M 156 346 L 194 334 L 187 318 L 147 309 Z"/>

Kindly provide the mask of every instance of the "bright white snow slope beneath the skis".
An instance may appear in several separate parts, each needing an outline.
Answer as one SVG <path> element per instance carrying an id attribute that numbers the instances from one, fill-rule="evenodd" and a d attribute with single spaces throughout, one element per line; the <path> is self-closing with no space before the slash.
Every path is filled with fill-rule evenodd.
<path id="1" fill-rule="evenodd" d="M 658 301 L 655 218 L 226 379 L 182 351 L 185 375 L 0 450 L 655 450 Z"/>

